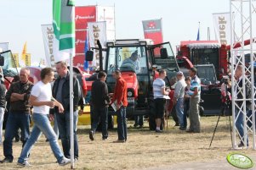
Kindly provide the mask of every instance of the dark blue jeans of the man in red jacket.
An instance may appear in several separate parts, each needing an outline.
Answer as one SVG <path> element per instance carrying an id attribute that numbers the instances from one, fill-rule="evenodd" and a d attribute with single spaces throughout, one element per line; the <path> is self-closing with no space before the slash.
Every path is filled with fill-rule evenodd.
<path id="1" fill-rule="evenodd" d="M 118 140 L 127 140 L 126 107 L 117 111 L 117 134 Z"/>

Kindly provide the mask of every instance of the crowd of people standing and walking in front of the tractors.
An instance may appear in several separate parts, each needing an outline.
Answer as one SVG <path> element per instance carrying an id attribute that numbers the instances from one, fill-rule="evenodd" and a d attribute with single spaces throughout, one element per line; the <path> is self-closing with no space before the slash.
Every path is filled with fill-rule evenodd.
<path id="1" fill-rule="evenodd" d="M 155 69 L 155 68 L 154 68 Z M 70 75 L 65 62 L 56 63 L 56 72 L 59 75 L 54 80 L 54 69 L 45 68 L 41 71 L 41 80 L 33 85 L 29 80 L 30 69 L 20 69 L 20 79 L 13 82 L 9 90 L 6 90 L 3 82 L 0 84 L 0 143 L 2 143 L 2 126 L 3 114 L 8 109 L 9 117 L 6 123 L 3 155 L 5 156 L 1 163 L 13 162 L 13 140 L 17 134 L 17 130 L 21 130 L 22 151 L 18 159 L 18 165 L 22 167 L 30 166 L 28 158 L 31 149 L 37 142 L 41 134 L 47 138 L 48 144 L 57 159 L 60 166 L 64 166 L 71 162 L 71 134 L 70 134 Z M 160 69 L 159 72 L 154 70 L 154 80 L 152 84 L 156 133 L 162 133 L 162 122 L 166 112 L 166 100 L 174 101 L 174 108 L 179 121 L 179 129 L 186 130 L 188 133 L 200 133 L 200 116 L 199 101 L 201 95 L 201 82 L 196 75 L 195 68 L 190 69 L 190 76 L 185 77 L 179 71 L 176 74 L 177 82 L 174 85 L 174 97 L 169 98 L 170 89 L 164 81 L 167 72 Z M 237 85 L 242 87 L 242 67 L 237 66 L 236 69 Z M 89 131 L 89 139 L 95 140 L 96 129 L 101 122 L 102 140 L 107 140 L 108 135 L 108 108 L 112 106 L 117 113 L 117 140 L 114 142 L 124 143 L 128 140 L 127 132 L 127 115 L 126 107 L 128 107 L 127 83 L 122 78 L 120 70 L 114 70 L 112 77 L 116 80 L 113 93 L 109 93 L 105 83 L 107 74 L 100 71 L 97 80 L 94 80 L 91 90 L 91 115 L 92 124 Z M 230 88 L 230 85 L 227 86 Z M 235 87 L 235 97 L 241 98 L 239 87 Z M 223 89 L 223 88 L 222 88 Z M 227 91 L 227 90 L 225 90 Z M 223 94 L 224 96 L 230 93 Z M 84 102 L 82 85 L 76 76 L 73 76 L 73 120 L 74 120 L 74 156 L 75 162 L 78 161 L 78 140 L 77 140 L 77 121 L 78 115 L 82 113 Z M 6 104 L 8 103 L 8 105 Z M 241 105 L 242 103 L 237 103 Z M 7 107 L 9 106 L 9 107 Z M 79 110 L 80 108 L 80 110 Z M 30 131 L 30 115 L 33 121 L 33 128 Z M 243 114 L 236 109 L 236 128 L 241 136 L 243 134 Z M 187 127 L 187 117 L 189 117 L 190 126 Z M 50 121 L 55 120 L 54 126 L 58 130 L 54 130 Z M 142 121 L 143 122 L 143 121 Z M 60 132 L 60 140 L 62 150 L 58 143 Z M 241 146 L 244 145 L 241 140 Z M 248 142 L 247 142 L 248 145 Z"/>

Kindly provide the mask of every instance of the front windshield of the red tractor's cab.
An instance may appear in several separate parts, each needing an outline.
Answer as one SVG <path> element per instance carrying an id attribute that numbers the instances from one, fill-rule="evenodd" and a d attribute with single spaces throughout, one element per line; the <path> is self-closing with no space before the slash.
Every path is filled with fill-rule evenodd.
<path id="1" fill-rule="evenodd" d="M 108 74 L 111 74 L 113 69 L 146 74 L 148 69 L 145 47 L 110 47 L 107 62 Z"/>

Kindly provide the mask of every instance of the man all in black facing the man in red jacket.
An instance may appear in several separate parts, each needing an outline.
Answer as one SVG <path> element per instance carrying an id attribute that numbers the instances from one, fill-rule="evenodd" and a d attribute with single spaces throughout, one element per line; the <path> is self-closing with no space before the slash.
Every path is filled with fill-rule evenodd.
<path id="1" fill-rule="evenodd" d="M 94 134 L 98 127 L 98 123 L 101 120 L 102 123 L 102 140 L 106 140 L 108 137 L 107 123 L 108 123 L 108 103 L 110 103 L 110 97 L 108 96 L 107 85 L 105 84 L 106 74 L 100 71 L 98 74 L 98 80 L 95 80 L 92 85 L 91 103 L 93 109 L 93 123 L 92 129 L 89 132 L 90 140 L 94 140 Z"/>

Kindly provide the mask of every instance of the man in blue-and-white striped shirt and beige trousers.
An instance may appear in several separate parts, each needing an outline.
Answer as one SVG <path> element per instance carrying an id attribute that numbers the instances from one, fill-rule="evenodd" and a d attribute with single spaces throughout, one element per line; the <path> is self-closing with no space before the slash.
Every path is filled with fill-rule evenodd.
<path id="1" fill-rule="evenodd" d="M 191 68 L 191 87 L 189 90 L 190 95 L 190 129 L 187 130 L 189 133 L 200 133 L 200 120 L 199 120 L 199 101 L 201 94 L 201 80 L 196 75 L 197 69 Z"/>

